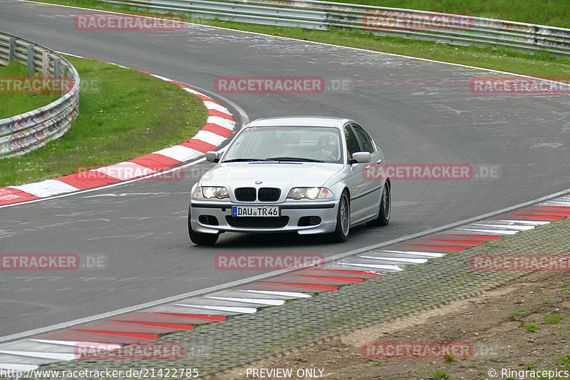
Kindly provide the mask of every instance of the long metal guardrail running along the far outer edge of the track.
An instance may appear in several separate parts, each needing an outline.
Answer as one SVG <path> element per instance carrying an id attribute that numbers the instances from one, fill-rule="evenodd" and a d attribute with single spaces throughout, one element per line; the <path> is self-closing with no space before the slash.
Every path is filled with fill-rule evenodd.
<path id="1" fill-rule="evenodd" d="M 193 17 L 328 30 L 350 28 L 455 45 L 503 46 L 570 56 L 570 29 L 315 0 L 100 0 L 138 9 L 187 13 Z"/>

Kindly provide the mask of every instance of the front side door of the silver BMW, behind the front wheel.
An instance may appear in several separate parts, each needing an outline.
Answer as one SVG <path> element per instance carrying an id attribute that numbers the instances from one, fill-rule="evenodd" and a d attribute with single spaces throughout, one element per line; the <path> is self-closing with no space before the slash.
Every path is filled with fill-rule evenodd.
<path id="1" fill-rule="evenodd" d="M 362 218 L 366 209 L 366 183 L 368 182 L 363 175 L 366 163 L 351 163 L 352 155 L 361 152 L 362 147 L 358 142 L 356 133 L 354 133 L 351 123 L 344 125 L 344 138 L 346 140 L 346 148 L 348 150 L 348 166 L 350 173 L 346 178 L 348 190 L 351 192 L 351 222 L 358 222 Z"/>

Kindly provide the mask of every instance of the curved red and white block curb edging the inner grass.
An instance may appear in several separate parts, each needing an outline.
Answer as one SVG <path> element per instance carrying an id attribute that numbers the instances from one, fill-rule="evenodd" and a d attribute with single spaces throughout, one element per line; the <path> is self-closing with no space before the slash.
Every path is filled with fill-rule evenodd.
<path id="1" fill-rule="evenodd" d="M 146 71 L 138 71 L 147 73 Z M 174 83 L 180 86 L 184 91 L 192 93 L 202 99 L 204 106 L 208 110 L 208 118 L 206 124 L 193 138 L 170 148 L 133 158 L 133 160 L 89 170 L 84 173 L 73 173 L 37 183 L 0 188 L 0 206 L 52 197 L 53 195 L 60 195 L 67 192 L 98 188 L 110 183 L 133 180 L 145 175 L 157 173 L 172 166 L 199 158 L 208 150 L 216 150 L 219 145 L 222 145 L 222 143 L 229 138 L 229 135 L 236 126 L 236 121 L 232 113 L 221 103 L 182 83 L 171 81 L 168 78 L 151 73 L 147 74 L 155 78 L 160 78 L 163 81 Z M 90 172 L 98 173 L 94 175 L 94 173 Z"/>

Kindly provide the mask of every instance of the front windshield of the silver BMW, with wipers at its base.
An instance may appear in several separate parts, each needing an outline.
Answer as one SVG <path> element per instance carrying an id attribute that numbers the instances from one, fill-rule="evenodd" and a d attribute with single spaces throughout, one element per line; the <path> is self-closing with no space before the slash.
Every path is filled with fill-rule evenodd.
<path id="1" fill-rule="evenodd" d="M 341 135 L 328 127 L 249 127 L 239 133 L 222 162 L 306 161 L 342 163 Z"/>

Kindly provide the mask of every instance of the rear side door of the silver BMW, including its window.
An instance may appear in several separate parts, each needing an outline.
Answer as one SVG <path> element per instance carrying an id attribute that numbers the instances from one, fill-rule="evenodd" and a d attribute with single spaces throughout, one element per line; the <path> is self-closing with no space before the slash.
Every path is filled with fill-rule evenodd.
<path id="1" fill-rule="evenodd" d="M 361 207 L 362 207 L 362 217 L 370 217 L 378 212 L 378 206 L 380 202 L 380 195 L 382 192 L 383 178 L 380 175 L 380 170 L 378 170 L 378 165 L 382 163 L 382 152 L 376 147 L 374 141 L 366 133 L 360 125 L 353 123 L 352 128 L 358 143 L 361 146 L 363 152 L 368 152 L 371 154 L 370 163 L 363 164 L 361 176 L 365 179 L 365 184 L 361 191 Z M 372 168 L 371 168 L 372 167 Z M 371 168 L 372 170 L 369 170 Z"/>

